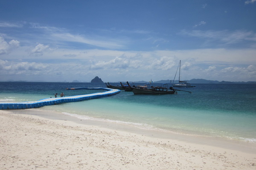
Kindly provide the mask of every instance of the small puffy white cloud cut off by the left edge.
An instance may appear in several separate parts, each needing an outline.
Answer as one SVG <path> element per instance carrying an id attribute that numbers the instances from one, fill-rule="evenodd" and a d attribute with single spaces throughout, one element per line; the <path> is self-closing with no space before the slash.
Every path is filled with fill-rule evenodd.
<path id="1" fill-rule="evenodd" d="M 3 37 L 0 37 L 0 55 L 8 54 L 13 49 L 20 46 L 20 42 L 17 40 L 11 40 L 10 42 L 6 42 Z"/>

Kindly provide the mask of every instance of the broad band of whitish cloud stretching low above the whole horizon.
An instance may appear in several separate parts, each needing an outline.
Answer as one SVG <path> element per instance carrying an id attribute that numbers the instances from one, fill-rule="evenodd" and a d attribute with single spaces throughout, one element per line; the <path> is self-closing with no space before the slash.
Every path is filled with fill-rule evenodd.
<path id="1" fill-rule="evenodd" d="M 12 41 L 11 44 L 15 46 L 17 43 Z M 19 77 L 21 76 L 14 78 L 13 75 L 22 75 L 23 80 L 33 80 L 37 78 L 35 75 L 38 75 L 40 79 L 42 78 L 42 81 L 73 81 L 74 79 L 90 81 L 95 76 L 104 78 L 104 81 L 116 82 L 119 80 L 138 81 L 148 79 L 157 81 L 160 79 L 172 79 L 180 59 L 183 64 L 182 79 L 204 78 L 219 81 L 255 81 L 253 75 L 256 77 L 255 48 L 182 51 L 114 51 L 56 48 L 54 51 L 50 51 L 50 45 L 37 44 L 31 50 L 33 49 L 33 52 L 42 54 L 40 62 L 46 62 L 45 64 L 39 63 L 38 57 L 27 55 L 28 48 L 30 47 L 22 46 L 17 48 L 16 51 L 12 51 L 11 54 L 1 56 L 0 72 L 2 80 L 20 80 Z M 51 62 L 52 56 L 54 56 L 54 59 L 58 59 L 58 63 Z M 251 66 L 247 69 L 241 69 L 242 67 L 239 66 L 248 64 Z M 44 68 L 44 65 L 47 65 L 47 67 Z M 208 65 L 207 67 L 209 68 L 205 69 L 205 65 Z M 214 70 L 212 65 L 218 65 L 218 68 L 216 67 Z M 230 67 L 230 65 L 233 67 Z M 220 68 L 224 66 L 226 69 L 220 71 Z M 209 71 L 209 74 L 207 71 Z M 226 71 L 225 74 L 223 71 Z M 33 75 L 35 77 L 32 79 Z"/>

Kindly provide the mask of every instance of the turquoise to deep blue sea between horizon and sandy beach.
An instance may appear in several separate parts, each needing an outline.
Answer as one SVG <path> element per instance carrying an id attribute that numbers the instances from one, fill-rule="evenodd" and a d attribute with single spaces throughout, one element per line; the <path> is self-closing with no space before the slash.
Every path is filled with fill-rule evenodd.
<path id="1" fill-rule="evenodd" d="M 112 83 L 112 85 L 119 85 Z M 153 84 L 154 85 L 154 84 Z M 160 84 L 156 84 L 160 85 Z M 143 129 L 221 137 L 256 143 L 256 85 L 194 84 L 171 95 L 114 96 L 38 108 Z M 106 87 L 97 83 L 0 82 L 0 102 L 37 101 L 58 96 L 98 93 L 99 90 L 66 88 Z"/>

